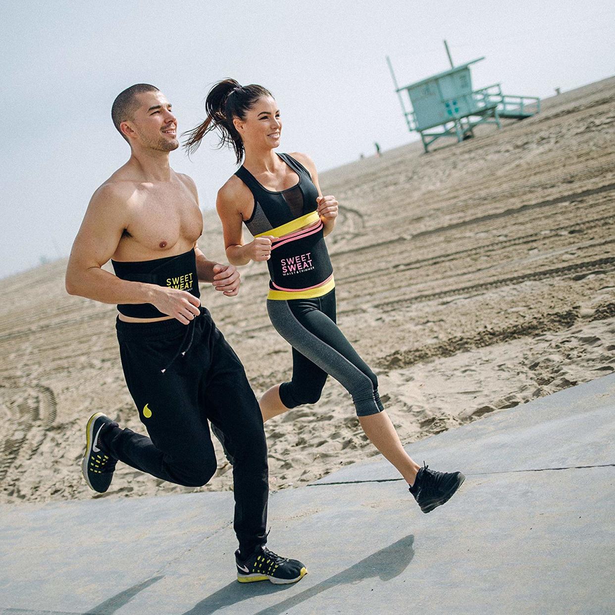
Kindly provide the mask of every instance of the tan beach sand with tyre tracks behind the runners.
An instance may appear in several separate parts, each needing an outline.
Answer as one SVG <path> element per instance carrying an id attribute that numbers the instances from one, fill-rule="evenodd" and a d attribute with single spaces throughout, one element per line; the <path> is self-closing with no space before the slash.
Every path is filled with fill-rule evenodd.
<path id="1" fill-rule="evenodd" d="M 376 371 L 402 442 L 615 370 L 614 98 L 606 79 L 459 145 L 423 155 L 412 143 L 322 173 L 341 204 L 327 238 L 338 322 Z M 204 220 L 199 245 L 223 260 L 215 212 Z M 108 493 L 85 485 L 93 411 L 144 430 L 114 306 L 66 295 L 65 267 L 2 280 L 0 502 L 195 491 L 124 465 Z M 266 314 L 266 266 L 251 263 L 242 280 L 237 298 L 203 285 L 202 300 L 258 395 L 289 378 L 291 354 Z M 331 378 L 319 403 L 272 419 L 266 433 L 273 490 L 377 454 Z M 199 490 L 232 488 L 215 444 L 218 472 Z"/>

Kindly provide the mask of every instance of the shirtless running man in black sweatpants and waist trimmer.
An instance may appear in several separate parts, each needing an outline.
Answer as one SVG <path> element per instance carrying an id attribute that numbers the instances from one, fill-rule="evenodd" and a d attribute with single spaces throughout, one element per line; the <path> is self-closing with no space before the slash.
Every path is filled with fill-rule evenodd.
<path id="1" fill-rule="evenodd" d="M 122 368 L 149 437 L 101 412 L 87 422 L 82 472 L 104 493 L 117 461 L 178 485 L 216 471 L 207 421 L 234 459 L 234 530 L 240 582 L 299 581 L 300 561 L 266 543 L 268 465 L 263 419 L 244 368 L 199 300 L 199 280 L 237 295 L 239 272 L 197 247 L 202 216 L 194 181 L 169 166 L 177 119 L 153 85 L 132 85 L 113 103 L 129 161 L 94 192 L 66 269 L 66 290 L 115 303 Z M 102 269 L 111 259 L 116 275 Z"/>

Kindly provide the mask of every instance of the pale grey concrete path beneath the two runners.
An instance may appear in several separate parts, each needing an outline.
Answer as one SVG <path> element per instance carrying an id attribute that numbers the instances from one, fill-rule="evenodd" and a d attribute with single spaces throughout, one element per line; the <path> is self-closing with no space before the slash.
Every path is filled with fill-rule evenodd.
<path id="1" fill-rule="evenodd" d="M 0 611 L 613 613 L 614 441 L 611 375 L 408 445 L 467 475 L 431 514 L 381 458 L 274 493 L 282 587 L 234 580 L 231 493 L 4 506 Z"/>

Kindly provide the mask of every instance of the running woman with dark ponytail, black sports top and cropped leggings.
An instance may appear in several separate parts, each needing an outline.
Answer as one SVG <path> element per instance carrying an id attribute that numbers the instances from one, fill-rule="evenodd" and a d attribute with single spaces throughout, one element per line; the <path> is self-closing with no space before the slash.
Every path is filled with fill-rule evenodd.
<path id="1" fill-rule="evenodd" d="M 216 207 L 230 263 L 267 261 L 267 309 L 293 347 L 293 376 L 260 400 L 263 420 L 320 399 L 327 375 L 352 395 L 363 431 L 407 480 L 423 512 L 444 504 L 464 480 L 460 472 L 434 472 L 413 461 L 378 395 L 378 380 L 336 325 L 335 280 L 324 237 L 335 226 L 338 202 L 322 196 L 314 162 L 306 154 L 277 154 L 282 121 L 271 92 L 261 85 L 218 82 L 205 101 L 207 119 L 188 132 L 194 151 L 217 130 L 235 151 L 237 172 L 218 191 Z M 254 236 L 244 241 L 242 224 Z"/>

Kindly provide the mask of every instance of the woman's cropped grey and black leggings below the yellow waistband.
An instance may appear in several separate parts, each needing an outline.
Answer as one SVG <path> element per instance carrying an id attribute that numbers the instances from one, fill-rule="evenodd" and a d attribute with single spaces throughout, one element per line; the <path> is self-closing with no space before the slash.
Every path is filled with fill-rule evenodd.
<path id="1" fill-rule="evenodd" d="M 287 408 L 320 399 L 327 375 L 352 395 L 358 416 L 384 410 L 378 378 L 336 325 L 335 288 L 314 299 L 267 300 L 269 319 L 293 347 L 293 377 L 280 385 Z"/>

